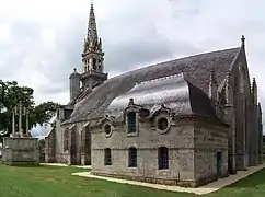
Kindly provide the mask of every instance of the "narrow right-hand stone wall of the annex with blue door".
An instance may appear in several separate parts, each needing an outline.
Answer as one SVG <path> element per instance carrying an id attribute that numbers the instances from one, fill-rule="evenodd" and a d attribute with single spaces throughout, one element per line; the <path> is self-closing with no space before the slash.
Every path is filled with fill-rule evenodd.
<path id="1" fill-rule="evenodd" d="M 229 128 L 209 121 L 195 123 L 195 178 L 198 185 L 218 178 L 217 152 L 221 153 L 220 177 L 228 175 L 228 132 Z"/>

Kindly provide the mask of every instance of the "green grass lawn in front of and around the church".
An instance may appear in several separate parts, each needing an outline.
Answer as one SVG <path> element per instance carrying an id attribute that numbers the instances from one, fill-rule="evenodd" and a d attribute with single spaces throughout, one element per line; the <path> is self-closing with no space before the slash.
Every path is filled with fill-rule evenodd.
<path id="1" fill-rule="evenodd" d="M 0 165 L 0 197 L 194 197 L 127 184 L 72 176 L 88 171 L 58 166 Z M 264 197 L 265 169 L 204 197 Z"/>

